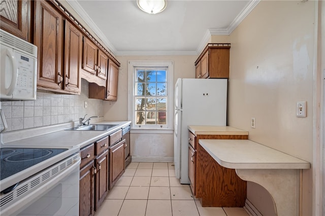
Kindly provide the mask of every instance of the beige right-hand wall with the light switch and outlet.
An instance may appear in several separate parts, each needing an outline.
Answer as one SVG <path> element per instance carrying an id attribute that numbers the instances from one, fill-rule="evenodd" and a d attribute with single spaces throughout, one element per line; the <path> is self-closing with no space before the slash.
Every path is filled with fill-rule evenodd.
<path id="1" fill-rule="evenodd" d="M 229 125 L 249 139 L 312 162 L 314 2 L 261 1 L 231 33 Z M 307 101 L 307 118 L 296 117 Z M 256 128 L 250 127 L 251 117 Z M 261 186 L 248 199 L 264 215 Z M 311 215 L 311 170 L 303 172 L 302 215 Z"/>

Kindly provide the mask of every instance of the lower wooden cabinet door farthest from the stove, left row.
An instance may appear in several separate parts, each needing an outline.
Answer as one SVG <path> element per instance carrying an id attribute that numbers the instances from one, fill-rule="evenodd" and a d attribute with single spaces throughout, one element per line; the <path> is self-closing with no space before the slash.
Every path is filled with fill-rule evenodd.
<path id="1" fill-rule="evenodd" d="M 110 151 L 110 190 L 113 188 L 119 177 L 125 170 L 124 157 L 125 139 L 112 146 Z"/>

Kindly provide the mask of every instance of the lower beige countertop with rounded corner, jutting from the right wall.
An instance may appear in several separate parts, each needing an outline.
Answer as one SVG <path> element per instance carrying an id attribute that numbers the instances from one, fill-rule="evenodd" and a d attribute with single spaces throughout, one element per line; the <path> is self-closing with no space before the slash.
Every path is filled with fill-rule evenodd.
<path id="1" fill-rule="evenodd" d="M 309 169 L 310 163 L 248 139 L 200 139 L 223 167 L 232 169 Z"/>

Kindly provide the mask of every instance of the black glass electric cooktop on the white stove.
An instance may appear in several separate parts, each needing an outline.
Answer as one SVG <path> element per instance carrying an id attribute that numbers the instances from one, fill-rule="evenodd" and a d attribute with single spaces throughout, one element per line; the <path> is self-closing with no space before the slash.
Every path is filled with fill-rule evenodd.
<path id="1" fill-rule="evenodd" d="M 68 149 L 2 148 L 0 149 L 0 180 L 54 157 Z"/>

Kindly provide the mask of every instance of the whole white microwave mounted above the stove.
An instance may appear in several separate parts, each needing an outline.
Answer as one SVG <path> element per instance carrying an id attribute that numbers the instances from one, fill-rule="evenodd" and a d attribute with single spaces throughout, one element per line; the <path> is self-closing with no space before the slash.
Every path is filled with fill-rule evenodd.
<path id="1" fill-rule="evenodd" d="M 0 29 L 0 100 L 36 100 L 37 46 Z"/>

